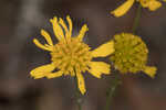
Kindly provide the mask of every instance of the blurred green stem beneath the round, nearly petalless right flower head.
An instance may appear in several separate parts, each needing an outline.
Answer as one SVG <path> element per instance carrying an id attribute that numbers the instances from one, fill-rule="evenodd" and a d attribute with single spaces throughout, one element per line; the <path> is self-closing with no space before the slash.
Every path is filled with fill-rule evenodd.
<path id="1" fill-rule="evenodd" d="M 118 87 L 118 85 L 121 85 L 120 75 L 117 73 L 115 73 L 114 75 L 115 75 L 114 79 L 111 80 L 111 87 L 107 89 L 107 92 L 106 92 L 105 110 L 110 110 L 110 106 L 111 106 L 112 99 L 115 95 L 116 88 Z"/>

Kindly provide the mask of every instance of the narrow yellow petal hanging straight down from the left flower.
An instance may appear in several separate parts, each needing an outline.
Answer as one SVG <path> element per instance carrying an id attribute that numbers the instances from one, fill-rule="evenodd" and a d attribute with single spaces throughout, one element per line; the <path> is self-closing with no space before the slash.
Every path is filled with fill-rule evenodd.
<path id="1" fill-rule="evenodd" d="M 86 89 L 85 89 L 84 78 L 83 78 L 83 76 L 81 75 L 81 73 L 76 73 L 76 78 L 77 78 L 77 86 L 79 86 L 79 89 L 80 89 L 81 94 L 84 95 L 85 91 L 86 91 Z"/>

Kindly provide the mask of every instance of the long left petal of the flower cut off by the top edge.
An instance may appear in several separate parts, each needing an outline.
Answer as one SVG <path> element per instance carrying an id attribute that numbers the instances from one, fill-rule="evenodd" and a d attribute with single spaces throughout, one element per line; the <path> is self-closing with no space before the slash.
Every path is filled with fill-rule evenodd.
<path id="1" fill-rule="evenodd" d="M 120 6 L 117 9 L 112 11 L 111 13 L 114 14 L 116 18 L 124 15 L 133 6 L 135 0 L 127 0 L 125 3 Z"/>

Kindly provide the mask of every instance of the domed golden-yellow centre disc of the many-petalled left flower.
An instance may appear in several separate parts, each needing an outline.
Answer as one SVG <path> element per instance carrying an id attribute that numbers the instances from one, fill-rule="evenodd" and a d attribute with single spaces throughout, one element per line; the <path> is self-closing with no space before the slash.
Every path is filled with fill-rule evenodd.
<path id="1" fill-rule="evenodd" d="M 92 58 L 89 45 L 76 37 L 60 41 L 54 45 L 51 56 L 55 67 L 63 70 L 64 75 L 71 76 L 75 75 L 76 69 L 87 70 L 87 64 Z"/>

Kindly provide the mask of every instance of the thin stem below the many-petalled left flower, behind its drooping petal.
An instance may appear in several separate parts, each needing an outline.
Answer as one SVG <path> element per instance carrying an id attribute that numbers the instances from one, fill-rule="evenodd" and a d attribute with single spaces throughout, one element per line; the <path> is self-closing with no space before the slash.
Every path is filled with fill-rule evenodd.
<path id="1" fill-rule="evenodd" d="M 77 79 L 76 77 L 74 78 L 74 82 L 76 84 L 76 87 L 75 87 L 75 97 L 76 97 L 76 105 L 77 105 L 77 110 L 82 110 L 82 103 L 83 103 L 83 100 L 82 100 L 82 95 L 77 88 Z"/>

